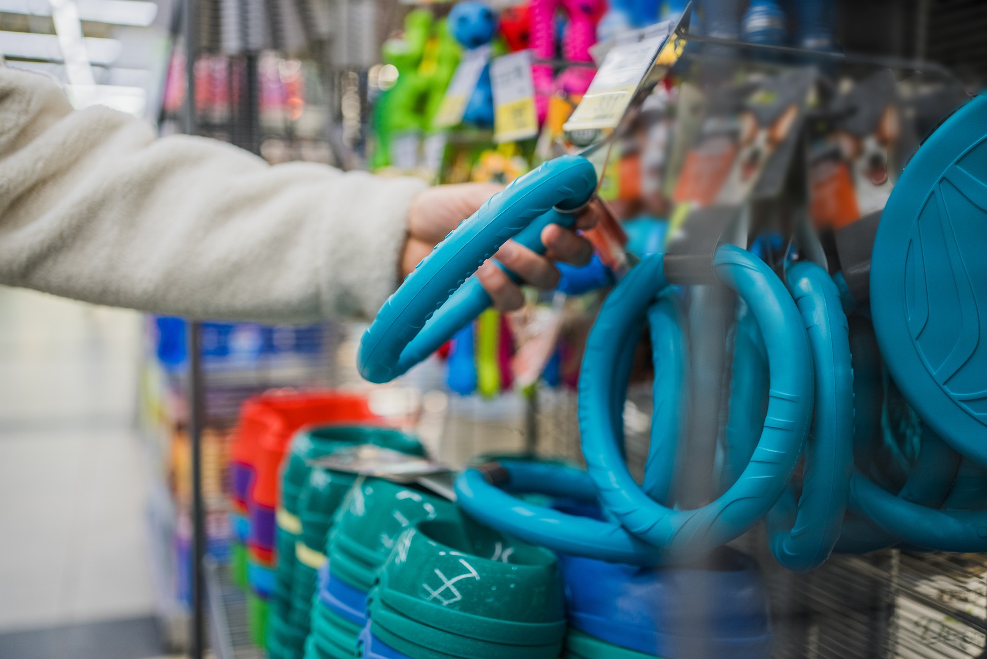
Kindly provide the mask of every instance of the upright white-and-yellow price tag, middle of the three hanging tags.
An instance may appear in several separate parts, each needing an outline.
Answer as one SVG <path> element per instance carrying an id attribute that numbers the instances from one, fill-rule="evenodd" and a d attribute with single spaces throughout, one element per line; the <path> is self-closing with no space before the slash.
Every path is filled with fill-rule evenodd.
<path id="1" fill-rule="evenodd" d="M 538 134 L 531 52 L 520 50 L 491 61 L 493 140 L 513 142 Z"/>

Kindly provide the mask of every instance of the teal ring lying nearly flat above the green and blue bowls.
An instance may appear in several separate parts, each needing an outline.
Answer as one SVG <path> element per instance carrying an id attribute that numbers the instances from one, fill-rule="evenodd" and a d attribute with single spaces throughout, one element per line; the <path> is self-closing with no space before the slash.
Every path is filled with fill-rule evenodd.
<path id="1" fill-rule="evenodd" d="M 508 492 L 566 497 L 596 503 L 596 485 L 585 473 L 563 465 L 503 460 L 508 480 L 501 489 L 476 469 L 456 478 L 456 502 L 466 513 L 497 531 L 560 553 L 616 563 L 656 565 L 660 551 L 632 536 L 620 524 L 569 515 L 521 501 Z M 505 491 L 507 490 L 507 491 Z"/>

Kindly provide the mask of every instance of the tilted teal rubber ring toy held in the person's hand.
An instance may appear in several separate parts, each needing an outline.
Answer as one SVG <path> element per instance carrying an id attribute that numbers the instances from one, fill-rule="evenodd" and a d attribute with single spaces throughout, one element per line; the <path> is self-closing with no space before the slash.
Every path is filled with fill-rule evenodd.
<path id="1" fill-rule="evenodd" d="M 360 340 L 360 375 L 390 382 L 428 357 L 491 305 L 480 281 L 470 276 L 481 263 L 511 238 L 544 254 L 542 229 L 575 221 L 574 214 L 556 207 L 574 210 L 595 188 L 596 171 L 588 160 L 562 156 L 494 194 L 418 263 L 381 307 Z"/>

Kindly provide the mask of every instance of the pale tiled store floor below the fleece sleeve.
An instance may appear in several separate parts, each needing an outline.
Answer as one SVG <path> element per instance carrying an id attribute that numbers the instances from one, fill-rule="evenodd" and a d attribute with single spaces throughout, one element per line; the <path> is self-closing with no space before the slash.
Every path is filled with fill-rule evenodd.
<path id="1" fill-rule="evenodd" d="M 0 657 L 163 654 L 136 314 L 0 288 Z"/>

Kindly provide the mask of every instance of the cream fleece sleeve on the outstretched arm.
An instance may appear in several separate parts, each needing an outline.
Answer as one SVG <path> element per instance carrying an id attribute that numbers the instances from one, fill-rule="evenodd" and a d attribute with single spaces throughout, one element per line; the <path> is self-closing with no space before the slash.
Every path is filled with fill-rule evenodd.
<path id="1" fill-rule="evenodd" d="M 155 139 L 0 65 L 2 284 L 191 318 L 368 318 L 397 285 L 422 187 Z"/>

